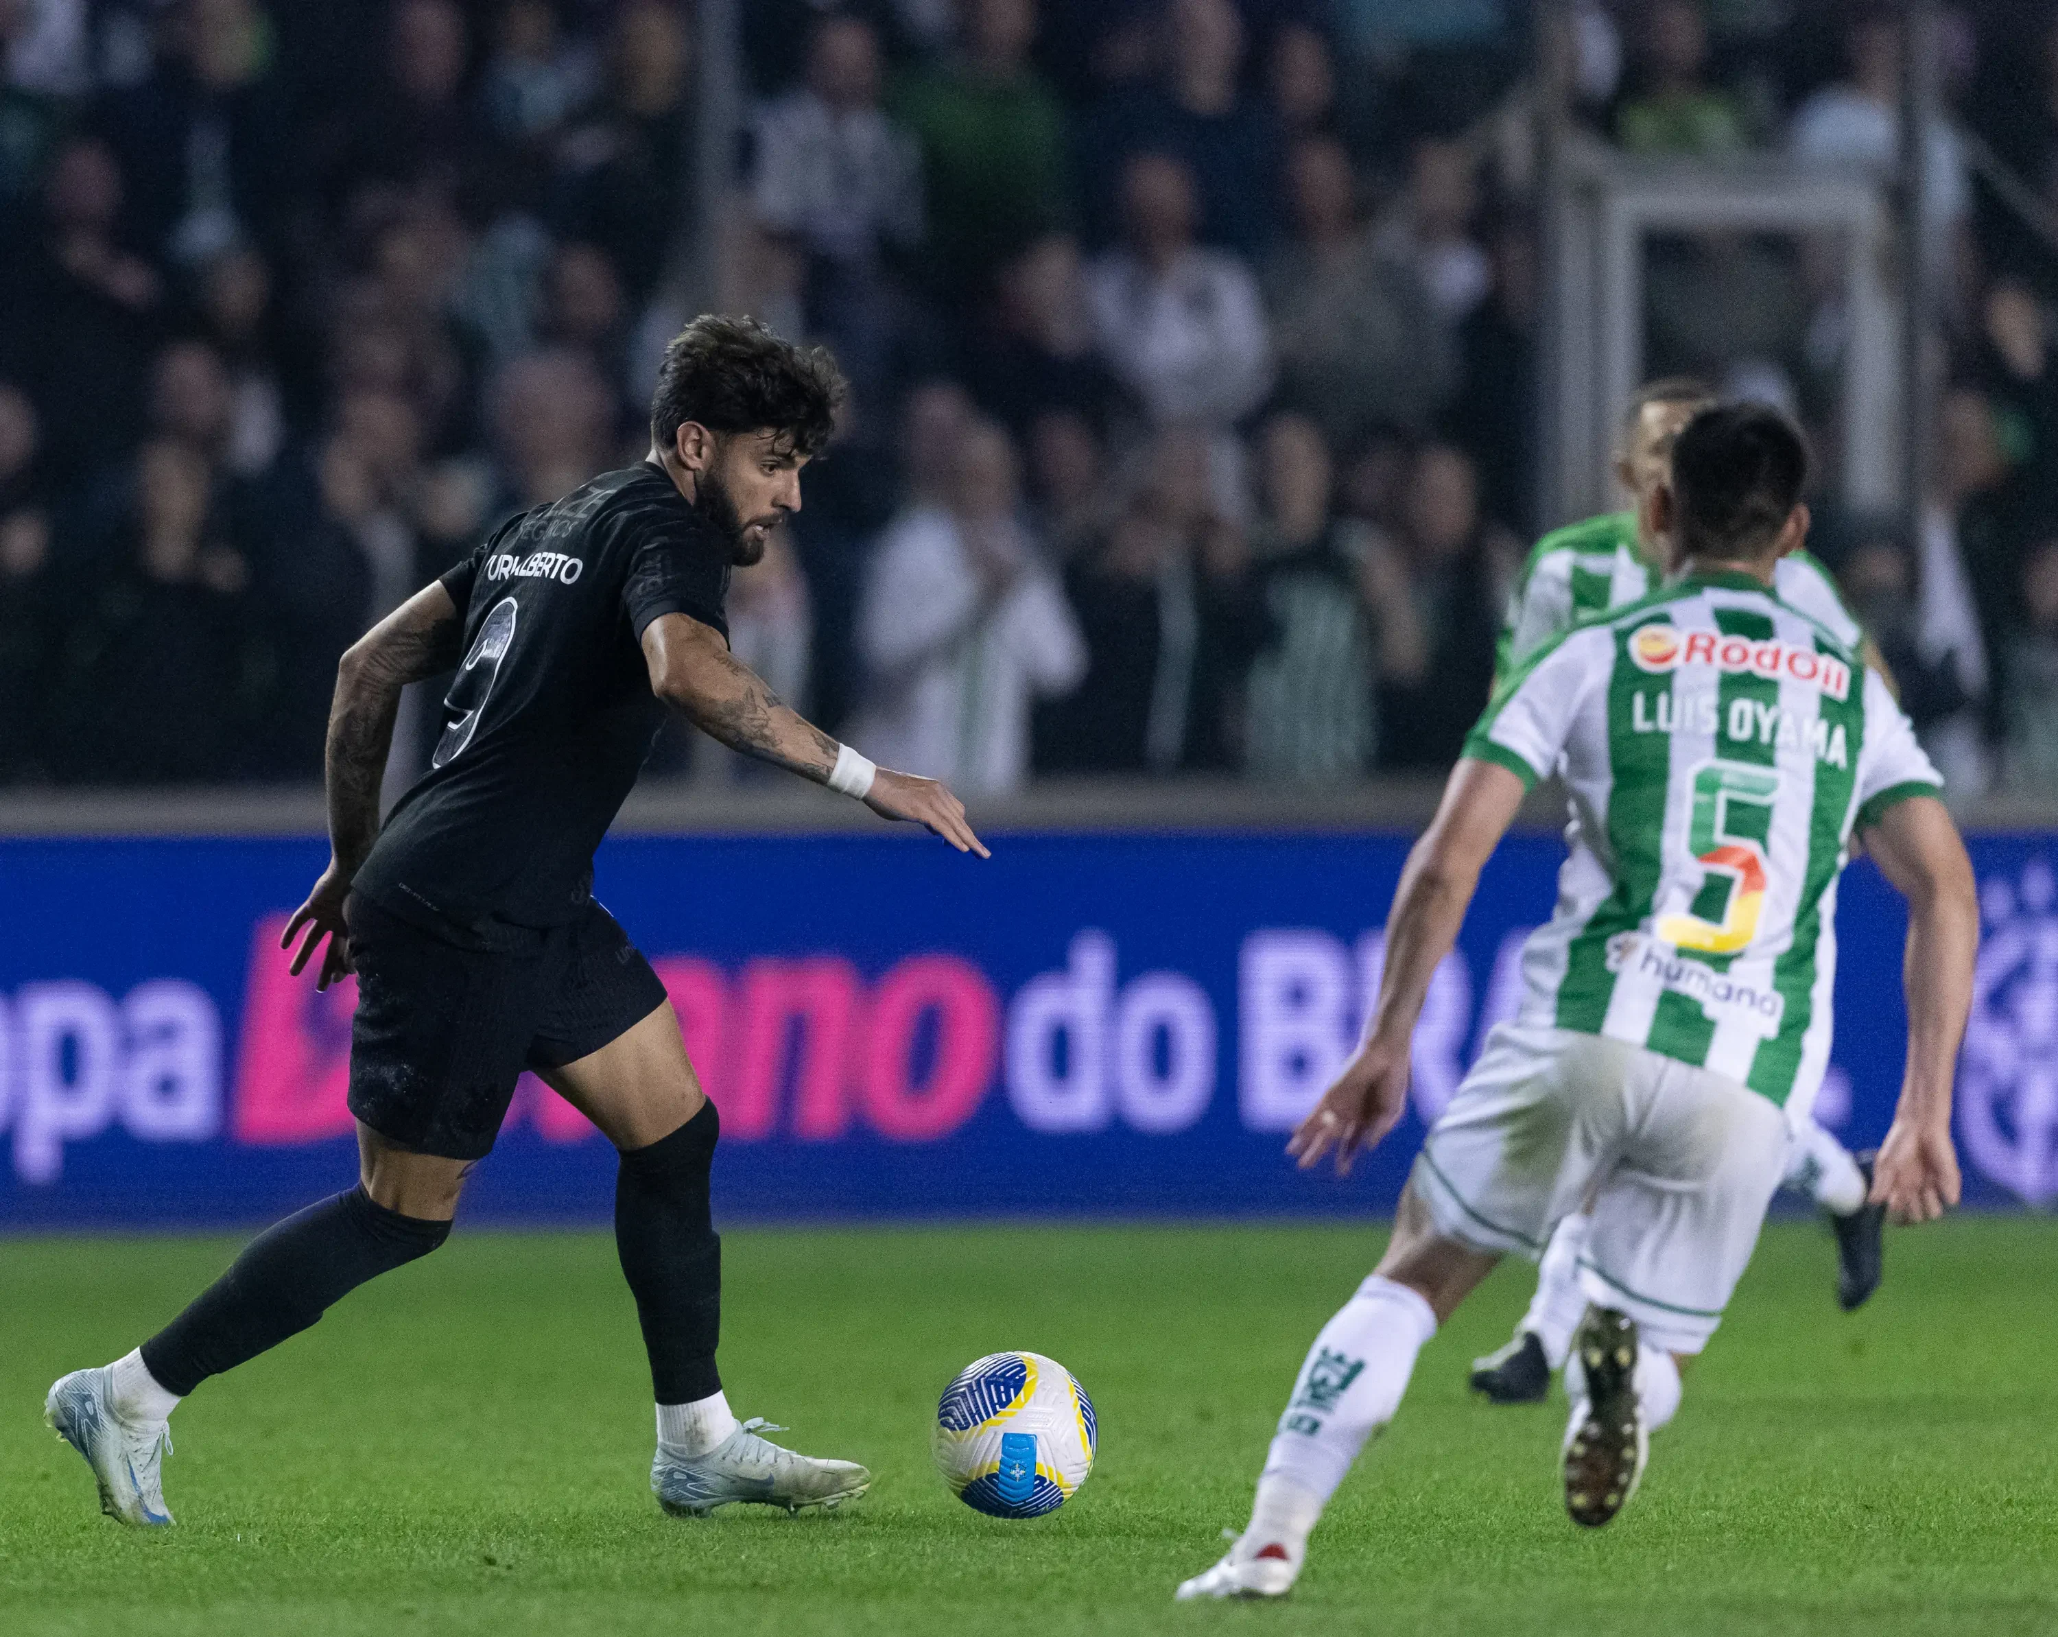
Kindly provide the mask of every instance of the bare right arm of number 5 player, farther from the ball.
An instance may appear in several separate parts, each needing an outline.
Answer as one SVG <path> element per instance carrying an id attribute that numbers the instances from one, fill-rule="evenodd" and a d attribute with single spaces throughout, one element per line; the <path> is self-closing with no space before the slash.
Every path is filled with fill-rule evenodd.
<path id="1" fill-rule="evenodd" d="M 1865 846 L 1908 898 L 1908 1069 L 1873 1165 L 1873 1200 L 1895 1221 L 1932 1221 L 1957 1205 L 1951 1081 L 1972 1011 L 1980 894 L 1965 842 L 1935 797 L 1895 801 L 1867 828 Z"/>

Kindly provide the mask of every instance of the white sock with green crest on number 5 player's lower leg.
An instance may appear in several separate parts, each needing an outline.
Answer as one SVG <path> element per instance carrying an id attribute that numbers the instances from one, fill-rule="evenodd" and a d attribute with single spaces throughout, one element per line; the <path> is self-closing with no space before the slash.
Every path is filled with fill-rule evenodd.
<path id="1" fill-rule="evenodd" d="M 1292 1563 L 1309 1530 L 1379 1427 L 1401 1404 L 1416 1353 L 1436 1334 L 1436 1314 L 1416 1291 L 1377 1273 L 1321 1326 L 1257 1478 L 1255 1551 L 1284 1546 Z"/>

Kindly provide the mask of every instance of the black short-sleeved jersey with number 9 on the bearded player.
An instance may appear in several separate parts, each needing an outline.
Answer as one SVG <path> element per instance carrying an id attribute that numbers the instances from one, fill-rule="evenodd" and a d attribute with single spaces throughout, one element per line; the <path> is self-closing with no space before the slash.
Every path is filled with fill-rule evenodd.
<path id="1" fill-rule="evenodd" d="M 442 577 L 465 659 L 430 770 L 399 799 L 354 892 L 492 941 L 587 902 L 593 850 L 665 706 L 642 632 L 689 614 L 729 636 L 731 546 L 644 463 L 504 523 Z"/>

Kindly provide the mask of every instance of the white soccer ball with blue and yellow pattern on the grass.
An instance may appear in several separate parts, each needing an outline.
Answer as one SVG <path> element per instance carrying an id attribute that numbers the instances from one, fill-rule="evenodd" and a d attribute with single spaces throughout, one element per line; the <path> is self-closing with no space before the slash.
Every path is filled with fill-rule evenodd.
<path id="1" fill-rule="evenodd" d="M 1070 1369 L 1041 1353 L 988 1353 L 943 1390 L 930 1454 L 967 1507 L 1041 1518 L 1087 1481 L 1099 1427 Z"/>

